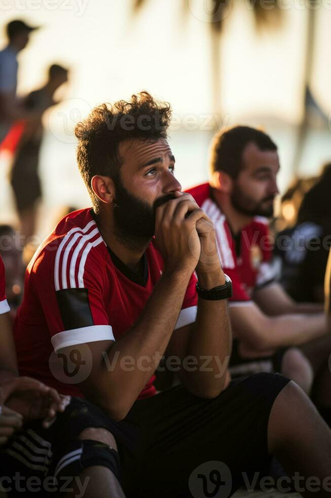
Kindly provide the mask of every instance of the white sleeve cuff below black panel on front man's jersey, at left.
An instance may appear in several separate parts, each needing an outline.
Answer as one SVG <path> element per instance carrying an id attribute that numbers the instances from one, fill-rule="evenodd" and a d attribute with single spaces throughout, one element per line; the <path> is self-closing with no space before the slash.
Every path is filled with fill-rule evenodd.
<path id="1" fill-rule="evenodd" d="M 77 344 L 94 343 L 97 340 L 115 340 L 110 325 L 92 325 L 79 329 L 65 330 L 53 335 L 52 345 L 55 353 L 62 348 Z"/>

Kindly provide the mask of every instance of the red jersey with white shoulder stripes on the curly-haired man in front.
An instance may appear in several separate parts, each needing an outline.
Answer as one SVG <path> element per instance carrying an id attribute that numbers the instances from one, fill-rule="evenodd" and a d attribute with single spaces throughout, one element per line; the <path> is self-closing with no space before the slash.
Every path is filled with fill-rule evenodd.
<path id="1" fill-rule="evenodd" d="M 14 323 L 20 374 L 61 393 L 82 396 L 77 386 L 52 375 L 53 349 L 119 339 L 138 319 L 162 269 L 163 259 L 153 242 L 144 254 L 142 277 L 109 250 L 90 209 L 68 214 L 40 246 L 25 274 L 24 298 Z M 192 275 L 175 329 L 195 321 L 195 284 Z M 155 394 L 154 379 L 139 398 Z"/>

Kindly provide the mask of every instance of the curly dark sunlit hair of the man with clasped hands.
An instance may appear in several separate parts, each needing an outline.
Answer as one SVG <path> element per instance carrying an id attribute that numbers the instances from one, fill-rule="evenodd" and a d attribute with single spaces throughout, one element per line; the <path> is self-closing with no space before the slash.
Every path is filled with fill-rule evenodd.
<path id="1" fill-rule="evenodd" d="M 94 175 L 119 178 L 122 158 L 119 144 L 128 139 L 155 142 L 167 138 L 170 104 L 156 101 L 147 91 L 132 95 L 131 101 L 95 107 L 75 129 L 78 138 L 77 162 L 88 188 L 95 212 L 100 200 L 91 188 Z"/>

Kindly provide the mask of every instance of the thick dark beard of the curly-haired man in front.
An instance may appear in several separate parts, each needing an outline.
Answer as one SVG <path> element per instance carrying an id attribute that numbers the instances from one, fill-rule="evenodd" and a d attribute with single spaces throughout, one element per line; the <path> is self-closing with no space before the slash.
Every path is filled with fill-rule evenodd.
<path id="1" fill-rule="evenodd" d="M 120 177 L 115 181 L 115 187 L 115 235 L 127 247 L 140 248 L 154 235 L 156 209 L 170 199 L 174 199 L 174 195 L 159 197 L 150 205 L 130 194 Z"/>

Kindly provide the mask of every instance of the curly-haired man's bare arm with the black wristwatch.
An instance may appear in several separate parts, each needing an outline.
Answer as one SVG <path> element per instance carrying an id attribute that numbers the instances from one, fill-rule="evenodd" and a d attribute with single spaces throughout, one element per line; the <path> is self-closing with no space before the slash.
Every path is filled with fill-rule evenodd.
<path id="1" fill-rule="evenodd" d="M 201 240 L 197 266 L 199 285 L 203 289 L 224 285 L 225 276 L 218 258 L 212 222 L 200 221 L 198 233 Z M 189 391 L 196 396 L 213 398 L 226 385 L 231 345 L 228 301 L 199 298 L 196 322 L 186 330 L 173 333 L 167 353 L 179 357 L 179 377 Z M 186 368 L 185 358 L 192 358 L 196 368 Z"/>

